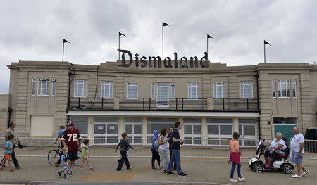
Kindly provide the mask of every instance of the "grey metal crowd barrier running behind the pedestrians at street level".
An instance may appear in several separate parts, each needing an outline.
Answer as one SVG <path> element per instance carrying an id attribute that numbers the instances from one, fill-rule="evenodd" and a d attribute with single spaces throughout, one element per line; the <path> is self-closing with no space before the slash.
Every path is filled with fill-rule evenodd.
<path id="1" fill-rule="evenodd" d="M 87 138 L 86 138 L 87 139 Z M 23 143 L 24 148 L 18 149 L 15 148 L 15 153 L 20 157 L 47 157 L 49 151 L 56 149 L 57 146 L 54 145 L 54 138 L 20 138 Z M 82 139 L 85 140 L 85 138 Z M 89 146 L 89 156 L 92 158 L 117 158 L 118 154 L 113 153 L 115 150 L 118 141 L 120 139 L 100 139 L 100 138 L 91 138 L 92 146 Z M 150 157 L 150 143 L 151 139 L 138 139 L 137 143 L 135 141 L 131 141 L 131 146 L 137 148 L 138 151 L 133 151 L 130 153 L 130 157 Z M 102 141 L 102 142 L 101 142 Z M 139 143 L 139 141 L 141 141 Z M 230 139 L 194 139 L 191 141 L 192 143 L 199 142 L 201 145 L 196 144 L 188 144 L 190 140 L 185 139 L 185 143 L 181 147 L 181 155 L 185 158 L 228 158 L 229 150 L 228 150 L 228 141 Z M 247 140 L 240 140 L 240 143 Z M 251 139 L 248 139 L 251 142 Z M 104 142 L 104 144 L 102 144 Z M 258 141 L 252 140 L 252 143 L 255 143 L 254 146 L 242 146 L 240 148 L 242 150 L 243 158 L 253 158 L 255 155 L 255 148 Z M 306 147 L 309 150 L 305 151 L 304 158 L 309 159 L 317 159 L 316 153 L 316 140 L 306 141 L 310 144 Z M 0 139 L 0 145 L 4 146 L 4 139 Z M 98 143 L 98 144 L 96 144 Z M 215 143 L 223 143 L 223 144 L 215 144 Z M 315 144 L 313 144 L 315 143 Z M 206 145 L 206 146 L 202 146 Z M 3 155 L 0 153 L 0 155 Z"/>

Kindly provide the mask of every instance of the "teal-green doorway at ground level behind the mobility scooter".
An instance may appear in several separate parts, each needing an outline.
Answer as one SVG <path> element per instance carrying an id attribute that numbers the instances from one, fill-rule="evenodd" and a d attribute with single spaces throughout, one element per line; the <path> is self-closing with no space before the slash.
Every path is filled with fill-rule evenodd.
<path id="1" fill-rule="evenodd" d="M 296 117 L 274 117 L 274 136 L 278 132 L 282 133 L 282 135 L 287 139 L 287 144 L 290 143 L 290 139 L 294 136 L 294 127 L 297 127 Z"/>

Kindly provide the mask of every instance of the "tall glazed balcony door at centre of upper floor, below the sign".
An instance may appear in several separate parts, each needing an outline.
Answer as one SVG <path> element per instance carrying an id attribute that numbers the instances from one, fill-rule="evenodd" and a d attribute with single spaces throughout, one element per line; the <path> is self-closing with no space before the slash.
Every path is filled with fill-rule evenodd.
<path id="1" fill-rule="evenodd" d="M 169 106 L 170 84 L 157 84 L 157 107 L 166 108 Z"/>

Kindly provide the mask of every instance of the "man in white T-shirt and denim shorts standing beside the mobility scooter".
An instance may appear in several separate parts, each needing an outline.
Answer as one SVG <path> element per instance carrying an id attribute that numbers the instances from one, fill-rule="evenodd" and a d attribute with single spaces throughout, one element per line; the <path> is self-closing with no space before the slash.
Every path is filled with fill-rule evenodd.
<path id="1" fill-rule="evenodd" d="M 290 151 L 292 152 L 292 162 L 296 164 L 297 167 L 297 173 L 292 175 L 292 177 L 302 178 L 305 174 L 308 174 L 309 172 L 309 170 L 305 169 L 302 165 L 304 157 L 304 136 L 303 134 L 301 134 L 298 127 L 293 128 L 293 133 L 295 135 L 290 141 Z"/>

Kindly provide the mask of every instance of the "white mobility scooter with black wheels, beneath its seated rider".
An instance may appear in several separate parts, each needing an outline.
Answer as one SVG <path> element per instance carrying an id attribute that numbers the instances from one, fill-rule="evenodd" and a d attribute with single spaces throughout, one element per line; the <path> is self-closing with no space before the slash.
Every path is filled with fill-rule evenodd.
<path id="1" fill-rule="evenodd" d="M 279 136 L 280 136 L 280 134 L 279 134 Z M 276 146 L 275 146 L 275 150 L 273 151 L 274 148 L 272 148 L 271 151 L 275 152 L 277 149 L 279 149 L 280 151 L 285 153 L 284 155 L 278 154 L 278 153 L 273 155 L 273 152 L 267 151 L 266 153 L 268 153 L 268 154 L 270 154 L 270 152 L 271 152 L 271 154 L 270 154 L 271 157 L 269 157 L 269 156 L 267 157 L 268 160 L 269 160 L 269 158 L 271 158 L 271 162 L 267 161 L 266 164 L 268 164 L 269 166 L 266 165 L 267 168 L 264 168 L 265 164 L 263 161 L 260 160 L 260 157 L 261 157 L 261 155 L 264 155 L 264 148 L 266 148 L 268 145 L 263 144 L 265 142 L 265 139 L 263 139 L 263 141 L 259 141 L 258 146 L 256 148 L 256 157 L 251 158 L 249 160 L 249 167 L 252 170 L 254 170 L 255 172 L 263 172 L 264 169 L 267 169 L 267 170 L 280 170 L 286 174 L 292 173 L 294 166 L 292 165 L 292 163 L 288 162 L 288 160 L 287 160 L 287 158 L 290 154 L 290 148 L 287 147 L 287 139 L 282 137 L 282 139 L 280 139 L 280 140 L 284 141 L 286 148 L 281 149 L 281 148 L 276 148 Z M 277 144 L 277 146 L 278 146 L 278 144 Z"/>

